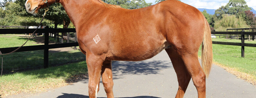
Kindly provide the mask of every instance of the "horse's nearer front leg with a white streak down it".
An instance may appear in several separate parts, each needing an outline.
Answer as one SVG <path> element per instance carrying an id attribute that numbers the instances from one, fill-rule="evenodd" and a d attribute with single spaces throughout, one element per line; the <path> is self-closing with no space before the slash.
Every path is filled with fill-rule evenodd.
<path id="1" fill-rule="evenodd" d="M 90 52 L 86 53 L 86 63 L 89 74 L 89 97 L 96 98 L 99 91 L 99 81 L 103 60 L 100 56 L 96 56 Z"/>

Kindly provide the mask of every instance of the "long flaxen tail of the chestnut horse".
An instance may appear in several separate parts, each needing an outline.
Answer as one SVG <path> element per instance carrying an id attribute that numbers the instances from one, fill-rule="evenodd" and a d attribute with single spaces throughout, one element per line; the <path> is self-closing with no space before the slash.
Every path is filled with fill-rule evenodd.
<path id="1" fill-rule="evenodd" d="M 202 59 L 203 72 L 206 75 L 206 77 L 208 77 L 212 67 L 213 54 L 212 54 L 211 29 L 205 18 L 204 18 L 204 34 L 203 34 L 201 59 Z"/>

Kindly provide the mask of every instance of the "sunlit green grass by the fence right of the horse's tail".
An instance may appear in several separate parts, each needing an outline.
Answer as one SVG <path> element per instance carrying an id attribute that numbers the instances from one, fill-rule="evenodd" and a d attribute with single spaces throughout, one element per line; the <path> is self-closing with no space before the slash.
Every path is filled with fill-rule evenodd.
<path id="1" fill-rule="evenodd" d="M 212 41 L 241 42 L 227 39 L 212 39 Z M 246 43 L 256 43 L 256 41 L 246 41 Z M 241 57 L 241 46 L 213 44 L 212 47 L 214 62 L 251 74 L 256 79 L 256 47 L 245 47 L 245 58 Z M 201 48 L 198 55 L 201 56 Z"/>

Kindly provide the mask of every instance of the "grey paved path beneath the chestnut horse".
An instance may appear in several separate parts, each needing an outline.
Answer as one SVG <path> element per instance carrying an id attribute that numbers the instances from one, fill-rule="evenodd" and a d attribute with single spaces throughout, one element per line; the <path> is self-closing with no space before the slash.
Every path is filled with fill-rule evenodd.
<path id="1" fill-rule="evenodd" d="M 139 62 L 117 61 L 113 66 L 115 98 L 174 98 L 178 81 L 165 51 Z M 102 82 L 98 98 L 106 98 Z M 19 95 L 21 97 L 22 95 Z M 255 98 L 256 88 L 213 65 L 206 79 L 206 98 Z M 15 96 L 13 96 L 15 97 Z M 29 98 L 88 98 L 88 79 L 48 92 L 24 95 Z M 196 98 L 192 80 L 184 98 Z"/>

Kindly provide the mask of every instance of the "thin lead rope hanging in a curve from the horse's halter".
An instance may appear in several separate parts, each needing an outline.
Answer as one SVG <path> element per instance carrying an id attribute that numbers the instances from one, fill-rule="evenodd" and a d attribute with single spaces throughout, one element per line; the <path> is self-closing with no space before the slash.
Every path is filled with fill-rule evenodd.
<path id="1" fill-rule="evenodd" d="M 43 18 L 42 20 L 40 21 L 39 25 L 37 26 L 37 28 L 35 29 L 35 31 L 31 34 L 31 36 L 29 37 L 29 39 L 32 37 L 32 35 L 37 31 L 38 27 L 41 25 L 42 21 L 44 20 L 44 17 L 46 15 L 46 12 L 49 10 L 49 8 L 45 8 L 45 11 L 44 11 L 44 15 L 43 15 Z M 0 51 L 0 55 L 2 55 L 2 71 L 1 71 L 1 77 L 2 77 L 2 73 L 3 73 L 3 55 L 9 55 L 9 54 L 12 54 L 14 52 L 16 52 L 17 50 L 19 50 L 21 47 L 23 47 L 28 41 L 29 39 L 23 44 L 21 45 L 19 48 L 17 48 L 16 50 L 10 52 L 10 53 L 7 53 L 7 54 L 2 54 L 2 52 Z"/>

